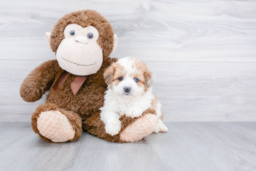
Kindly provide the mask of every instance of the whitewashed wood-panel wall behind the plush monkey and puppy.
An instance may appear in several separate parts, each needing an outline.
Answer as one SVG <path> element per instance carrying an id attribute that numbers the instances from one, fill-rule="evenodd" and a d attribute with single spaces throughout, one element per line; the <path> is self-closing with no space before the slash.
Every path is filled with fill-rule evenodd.
<path id="1" fill-rule="evenodd" d="M 256 1 L 18 1 L 0 5 L 0 121 L 30 121 L 20 84 L 55 59 L 45 32 L 72 11 L 95 9 L 119 43 L 156 74 L 164 121 L 256 121 Z"/>

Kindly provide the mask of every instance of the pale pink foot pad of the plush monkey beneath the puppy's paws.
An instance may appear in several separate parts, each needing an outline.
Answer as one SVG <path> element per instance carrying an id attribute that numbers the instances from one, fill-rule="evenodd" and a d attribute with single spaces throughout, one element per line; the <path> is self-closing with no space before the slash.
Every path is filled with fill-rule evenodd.
<path id="1" fill-rule="evenodd" d="M 126 142 L 139 141 L 152 133 L 156 127 L 156 123 L 157 119 L 155 115 L 143 115 L 120 133 L 120 139 Z"/>

